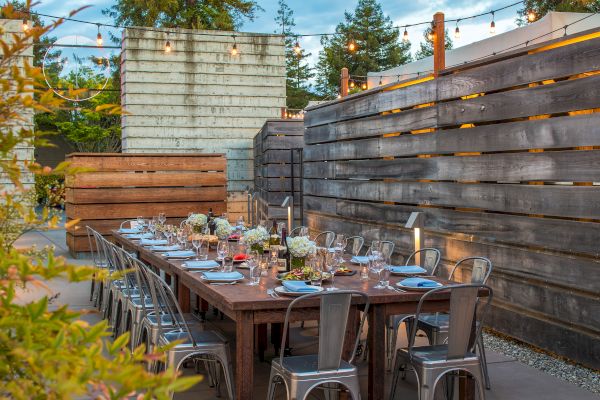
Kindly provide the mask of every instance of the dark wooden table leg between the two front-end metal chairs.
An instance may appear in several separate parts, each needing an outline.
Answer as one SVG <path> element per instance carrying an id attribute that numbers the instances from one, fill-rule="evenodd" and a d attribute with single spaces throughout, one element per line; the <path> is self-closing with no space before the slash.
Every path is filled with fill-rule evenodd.
<path id="1" fill-rule="evenodd" d="M 385 384 L 385 304 L 369 310 L 369 399 L 383 399 Z"/>

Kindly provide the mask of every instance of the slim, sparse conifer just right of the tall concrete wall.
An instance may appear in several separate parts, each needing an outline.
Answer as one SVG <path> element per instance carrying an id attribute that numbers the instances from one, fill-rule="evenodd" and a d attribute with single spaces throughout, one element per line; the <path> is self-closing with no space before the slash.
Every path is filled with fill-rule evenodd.
<path id="1" fill-rule="evenodd" d="M 288 7 L 285 0 L 279 0 L 279 9 L 275 16 L 275 22 L 280 27 L 275 33 L 282 33 L 285 40 L 285 67 L 286 67 L 286 95 L 288 108 L 304 108 L 308 101 L 315 97 L 311 92 L 309 80 L 314 77 L 307 58 L 311 53 L 300 47 L 298 38 L 292 32 L 296 26 L 294 21 L 294 11 Z"/>

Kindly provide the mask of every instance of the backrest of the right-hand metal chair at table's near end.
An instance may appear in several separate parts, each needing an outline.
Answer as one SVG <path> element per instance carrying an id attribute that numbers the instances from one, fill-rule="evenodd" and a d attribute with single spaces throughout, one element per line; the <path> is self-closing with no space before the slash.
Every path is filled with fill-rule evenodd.
<path id="1" fill-rule="evenodd" d="M 448 325 L 446 359 L 465 358 L 472 351 L 477 337 L 481 334 L 482 322 L 485 318 L 487 308 L 492 301 L 493 292 L 489 286 L 482 284 L 454 285 L 432 289 L 421 297 L 417 306 L 417 312 L 415 313 L 415 321 L 419 320 L 421 309 L 429 298 L 444 291 L 450 292 L 450 321 Z M 484 303 L 480 302 L 480 291 L 487 291 L 487 299 Z M 475 324 L 476 318 L 479 322 L 477 324 Z M 409 336 L 408 354 L 411 358 L 417 335 L 417 325 L 412 325 Z M 471 335 L 473 327 L 476 327 L 475 336 Z"/>

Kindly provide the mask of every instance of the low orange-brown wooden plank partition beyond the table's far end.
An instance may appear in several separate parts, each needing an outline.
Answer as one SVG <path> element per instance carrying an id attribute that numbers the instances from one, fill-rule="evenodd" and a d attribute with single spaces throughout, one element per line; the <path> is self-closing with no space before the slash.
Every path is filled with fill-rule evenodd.
<path id="1" fill-rule="evenodd" d="M 77 173 L 66 180 L 67 246 L 73 255 L 89 252 L 86 225 L 109 237 L 137 216 L 164 212 L 179 223 L 189 212 L 227 210 L 227 161 L 222 154 L 74 153 Z"/>

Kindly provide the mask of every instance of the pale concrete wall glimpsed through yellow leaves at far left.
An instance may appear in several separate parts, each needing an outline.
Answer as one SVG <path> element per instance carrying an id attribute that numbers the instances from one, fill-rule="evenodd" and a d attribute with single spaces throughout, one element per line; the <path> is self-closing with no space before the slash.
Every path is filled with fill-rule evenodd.
<path id="1" fill-rule="evenodd" d="M 22 32 L 22 21 L 14 20 L 14 19 L 0 19 L 0 29 L 2 30 L 2 40 L 6 43 L 10 44 L 13 41 L 14 33 Z M 29 62 L 30 65 L 33 64 L 33 47 L 27 48 L 23 53 L 16 58 L 16 64 L 22 69 L 24 68 L 25 61 Z M 7 93 L 7 95 L 11 95 L 11 93 Z M 19 127 L 33 129 L 33 110 L 26 110 L 21 113 L 21 116 L 24 118 L 21 121 L 13 121 L 11 125 L 14 129 L 18 129 Z M 17 160 L 19 161 L 32 161 L 33 160 L 33 146 L 29 143 L 21 143 L 17 145 L 15 148 L 13 155 L 17 156 Z M 31 188 L 34 185 L 33 175 L 25 172 L 23 169 L 23 175 L 21 176 L 21 181 L 24 183 L 26 188 Z M 11 186 L 10 180 L 6 176 L 2 176 L 0 174 L 0 190 L 8 189 Z"/>

